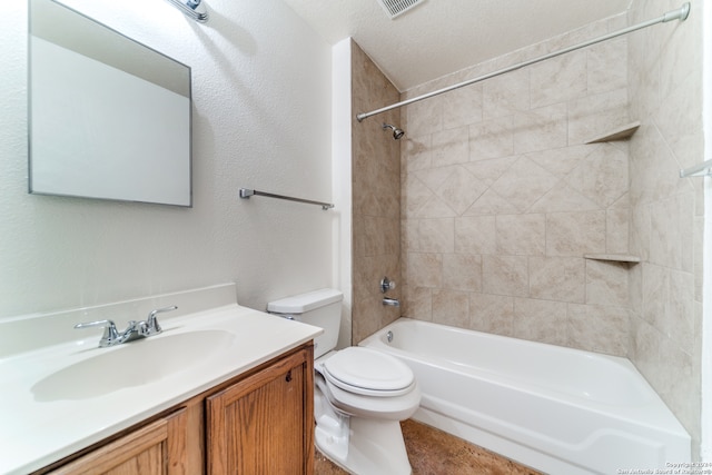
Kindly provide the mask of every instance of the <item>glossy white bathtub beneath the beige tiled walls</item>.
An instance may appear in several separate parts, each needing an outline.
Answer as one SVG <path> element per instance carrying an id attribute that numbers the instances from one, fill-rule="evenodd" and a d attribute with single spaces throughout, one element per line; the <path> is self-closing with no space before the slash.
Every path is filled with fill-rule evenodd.
<path id="1" fill-rule="evenodd" d="M 690 436 L 625 358 L 408 318 L 360 345 L 413 369 L 423 392 L 413 418 L 538 471 L 655 473 L 690 462 Z"/>

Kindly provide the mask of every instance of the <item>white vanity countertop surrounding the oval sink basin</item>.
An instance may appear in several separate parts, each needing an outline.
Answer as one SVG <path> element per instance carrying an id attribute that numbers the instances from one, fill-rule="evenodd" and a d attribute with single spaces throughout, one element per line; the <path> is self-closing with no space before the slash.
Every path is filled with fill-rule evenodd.
<path id="1" fill-rule="evenodd" d="M 111 348 L 98 348 L 98 339 L 92 335 L 0 359 L 0 474 L 27 474 L 41 468 L 322 333 L 320 328 L 237 304 L 175 318 L 161 319 L 159 315 L 159 320 L 162 334 Z M 73 388 L 59 396 L 40 390 L 41 382 L 47 382 L 51 375 L 107 352 L 125 350 L 122 347 L 127 345 L 142 345 L 154 338 L 205 330 L 231 335 L 225 347 L 204 360 L 191 362 L 177 373 L 152 380 L 151 362 L 146 362 L 140 370 L 151 378 L 147 383 L 130 387 L 117 385 L 106 394 L 98 387 L 96 393 L 99 394 L 86 396 L 72 395 Z M 85 334 L 78 336 L 86 337 Z M 116 369 L 106 368 L 109 374 Z"/>

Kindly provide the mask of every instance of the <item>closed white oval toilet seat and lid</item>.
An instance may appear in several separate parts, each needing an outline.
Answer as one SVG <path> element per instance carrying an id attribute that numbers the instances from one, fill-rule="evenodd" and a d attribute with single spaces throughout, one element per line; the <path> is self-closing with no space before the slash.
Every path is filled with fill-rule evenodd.
<path id="1" fill-rule="evenodd" d="M 324 362 L 325 379 L 348 393 L 396 397 L 413 390 L 415 376 L 399 359 L 363 347 L 348 347 Z"/>

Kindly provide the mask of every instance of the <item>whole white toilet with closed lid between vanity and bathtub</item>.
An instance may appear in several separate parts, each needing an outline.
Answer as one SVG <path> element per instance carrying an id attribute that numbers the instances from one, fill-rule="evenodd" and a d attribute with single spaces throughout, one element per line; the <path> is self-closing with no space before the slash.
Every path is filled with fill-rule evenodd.
<path id="1" fill-rule="evenodd" d="M 399 420 L 411 417 L 421 390 L 408 366 L 373 349 L 334 352 L 342 319 L 339 290 L 322 289 L 267 305 L 267 311 L 324 328 L 315 339 L 316 445 L 357 475 L 412 473 Z"/>

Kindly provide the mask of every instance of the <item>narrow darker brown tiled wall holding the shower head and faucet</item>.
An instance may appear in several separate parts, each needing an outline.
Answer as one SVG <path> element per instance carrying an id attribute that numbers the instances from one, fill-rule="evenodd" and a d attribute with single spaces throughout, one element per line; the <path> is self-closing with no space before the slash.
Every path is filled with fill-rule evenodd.
<path id="1" fill-rule="evenodd" d="M 398 90 L 352 41 L 354 113 L 397 102 Z M 382 304 L 380 279 L 398 287 L 400 297 L 400 147 L 382 123 L 400 125 L 398 110 L 352 123 L 353 291 L 352 342 L 357 344 L 400 316 Z"/>

